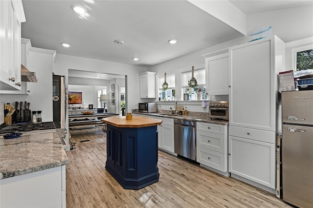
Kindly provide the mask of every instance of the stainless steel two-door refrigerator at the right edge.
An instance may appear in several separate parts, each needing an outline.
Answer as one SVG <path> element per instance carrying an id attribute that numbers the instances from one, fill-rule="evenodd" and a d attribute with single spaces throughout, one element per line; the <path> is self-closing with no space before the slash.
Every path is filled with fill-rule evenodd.
<path id="1" fill-rule="evenodd" d="M 282 92 L 282 195 L 313 206 L 313 90 Z"/>

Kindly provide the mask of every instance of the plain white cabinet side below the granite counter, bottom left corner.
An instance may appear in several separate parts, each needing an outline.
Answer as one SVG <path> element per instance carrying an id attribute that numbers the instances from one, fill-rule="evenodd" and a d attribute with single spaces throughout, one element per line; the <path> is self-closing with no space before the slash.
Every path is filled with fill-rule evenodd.
<path id="1" fill-rule="evenodd" d="M 66 166 L 0 180 L 1 208 L 66 208 Z"/>

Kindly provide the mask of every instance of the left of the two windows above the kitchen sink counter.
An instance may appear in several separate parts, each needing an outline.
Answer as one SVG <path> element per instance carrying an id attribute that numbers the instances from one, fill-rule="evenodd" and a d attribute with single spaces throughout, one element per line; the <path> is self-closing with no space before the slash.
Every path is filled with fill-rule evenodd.
<path id="1" fill-rule="evenodd" d="M 166 83 L 168 89 L 163 90 L 162 84 L 164 83 L 164 76 L 157 78 L 157 90 L 159 101 L 174 101 L 175 100 L 175 74 L 166 75 Z"/>

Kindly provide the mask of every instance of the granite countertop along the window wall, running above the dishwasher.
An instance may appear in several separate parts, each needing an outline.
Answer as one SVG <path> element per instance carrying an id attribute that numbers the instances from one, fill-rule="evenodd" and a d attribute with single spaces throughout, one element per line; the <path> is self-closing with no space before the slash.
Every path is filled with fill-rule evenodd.
<path id="1" fill-rule="evenodd" d="M 138 111 L 133 111 L 133 113 L 147 115 L 147 116 L 156 116 L 156 117 L 162 117 L 162 118 L 196 121 L 196 122 L 203 122 L 203 123 L 210 123 L 210 124 L 219 124 L 219 125 L 228 125 L 229 124 L 228 121 L 214 120 L 214 119 L 209 118 L 206 115 L 203 116 L 203 113 L 198 113 L 198 112 L 188 112 L 188 115 L 171 115 L 171 114 L 162 113 L 162 112 L 141 113 Z"/>

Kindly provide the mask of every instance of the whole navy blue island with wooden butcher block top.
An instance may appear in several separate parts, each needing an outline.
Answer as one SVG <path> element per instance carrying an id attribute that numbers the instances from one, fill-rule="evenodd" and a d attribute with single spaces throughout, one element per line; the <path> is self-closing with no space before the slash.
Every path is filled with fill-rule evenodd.
<path id="1" fill-rule="evenodd" d="M 107 124 L 106 169 L 126 189 L 158 181 L 157 125 L 159 119 L 126 116 L 102 119 Z"/>

